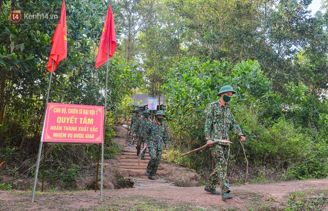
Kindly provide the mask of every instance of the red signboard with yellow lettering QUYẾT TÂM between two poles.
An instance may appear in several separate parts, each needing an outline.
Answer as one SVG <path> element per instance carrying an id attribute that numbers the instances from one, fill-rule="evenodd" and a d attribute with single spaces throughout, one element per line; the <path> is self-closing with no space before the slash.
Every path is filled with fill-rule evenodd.
<path id="1" fill-rule="evenodd" d="M 44 142 L 103 143 L 104 107 L 48 103 Z"/>

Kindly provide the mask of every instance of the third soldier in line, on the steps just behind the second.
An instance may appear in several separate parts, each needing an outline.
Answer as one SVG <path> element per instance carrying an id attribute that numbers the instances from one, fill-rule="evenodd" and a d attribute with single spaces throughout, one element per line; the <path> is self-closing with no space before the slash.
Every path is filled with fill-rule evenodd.
<path id="1" fill-rule="evenodd" d="M 140 118 L 140 121 L 138 121 L 134 127 L 134 131 L 133 134 L 136 134 L 136 138 L 137 138 L 137 156 L 139 156 L 140 150 L 141 150 L 141 144 L 142 144 L 142 148 L 144 147 L 144 143 L 146 140 L 146 131 L 148 129 L 148 126 L 151 122 L 150 119 L 148 119 L 150 115 L 150 111 L 149 110 L 145 110 L 144 111 L 144 116 L 142 116 Z M 146 154 L 145 150 L 144 152 L 142 152 L 141 155 L 141 160 L 145 160 L 145 154 Z"/>

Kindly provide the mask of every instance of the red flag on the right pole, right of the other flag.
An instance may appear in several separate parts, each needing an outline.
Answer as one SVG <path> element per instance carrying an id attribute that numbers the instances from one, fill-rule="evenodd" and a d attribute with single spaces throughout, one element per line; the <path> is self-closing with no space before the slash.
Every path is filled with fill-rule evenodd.
<path id="1" fill-rule="evenodd" d="M 114 25 L 114 16 L 109 3 L 109 8 L 107 11 L 105 24 L 103 28 L 103 33 L 101 34 L 100 44 L 97 53 L 96 59 L 96 68 L 100 67 L 107 61 L 107 47 L 109 43 L 109 57 L 111 58 L 116 50 L 116 34 L 115 34 L 115 25 Z"/>

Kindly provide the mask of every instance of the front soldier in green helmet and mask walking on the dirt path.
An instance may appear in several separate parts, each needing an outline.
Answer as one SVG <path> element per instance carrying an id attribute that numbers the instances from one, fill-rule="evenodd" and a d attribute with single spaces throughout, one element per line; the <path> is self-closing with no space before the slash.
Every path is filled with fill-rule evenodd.
<path id="1" fill-rule="evenodd" d="M 235 133 L 241 142 L 245 141 L 245 137 L 236 123 L 230 107 L 226 103 L 230 101 L 235 93 L 230 86 L 224 86 L 218 93 L 220 99 L 208 105 L 204 128 L 208 146 L 213 145 L 213 139 L 229 140 L 229 131 Z M 215 144 L 211 150 L 215 160 L 215 167 L 206 183 L 205 191 L 214 195 L 222 194 L 223 200 L 232 199 L 233 195 L 229 194 L 230 187 L 227 178 L 230 143 L 220 142 Z M 216 191 L 217 185 L 220 185 L 221 193 Z"/>

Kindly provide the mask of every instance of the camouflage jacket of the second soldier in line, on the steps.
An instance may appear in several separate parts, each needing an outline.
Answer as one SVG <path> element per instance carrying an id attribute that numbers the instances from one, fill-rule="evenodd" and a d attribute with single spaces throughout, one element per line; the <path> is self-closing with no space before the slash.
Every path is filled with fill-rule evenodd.
<path id="1" fill-rule="evenodd" d="M 152 121 L 147 129 L 146 143 L 149 148 L 163 150 L 163 143 L 168 145 L 167 127 L 163 122 Z"/>

